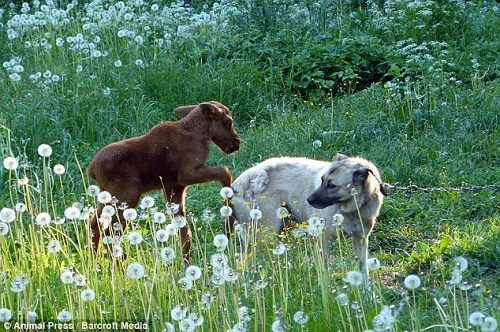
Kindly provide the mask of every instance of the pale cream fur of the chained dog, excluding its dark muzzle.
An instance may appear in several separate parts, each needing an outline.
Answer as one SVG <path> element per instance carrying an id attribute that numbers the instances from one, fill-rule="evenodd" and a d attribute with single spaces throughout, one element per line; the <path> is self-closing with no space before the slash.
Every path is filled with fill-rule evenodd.
<path id="1" fill-rule="evenodd" d="M 368 169 L 363 183 L 353 182 L 356 170 Z M 332 172 L 333 171 L 333 172 Z M 307 199 L 321 191 L 322 177 L 333 178 L 343 191 L 346 201 L 316 209 Z M 341 188 L 340 186 L 345 186 Z M 380 191 L 380 175 L 377 168 L 362 158 L 335 156 L 333 162 L 306 158 L 271 158 L 243 172 L 232 184 L 233 214 L 242 225 L 251 222 L 249 212 L 258 208 L 262 212 L 259 226 L 272 232 L 283 229 L 283 221 L 276 210 L 285 205 L 293 220 L 305 221 L 310 217 L 322 218 L 325 222 L 323 254 L 328 257 L 328 248 L 336 234 L 333 216 L 342 214 L 342 228 L 352 235 L 355 253 L 366 276 L 368 269 L 368 236 L 378 216 L 383 195 Z M 356 199 L 351 191 L 355 190 Z M 361 222 L 361 220 L 362 222 Z"/>

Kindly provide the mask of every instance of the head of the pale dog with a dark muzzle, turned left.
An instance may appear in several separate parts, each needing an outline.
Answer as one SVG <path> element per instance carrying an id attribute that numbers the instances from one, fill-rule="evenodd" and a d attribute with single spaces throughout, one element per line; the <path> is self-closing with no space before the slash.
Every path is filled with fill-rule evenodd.
<path id="1" fill-rule="evenodd" d="M 365 159 L 337 154 L 320 176 L 321 183 L 307 198 L 317 209 L 340 204 L 342 211 L 352 212 L 374 196 L 382 199 L 378 170 Z"/>

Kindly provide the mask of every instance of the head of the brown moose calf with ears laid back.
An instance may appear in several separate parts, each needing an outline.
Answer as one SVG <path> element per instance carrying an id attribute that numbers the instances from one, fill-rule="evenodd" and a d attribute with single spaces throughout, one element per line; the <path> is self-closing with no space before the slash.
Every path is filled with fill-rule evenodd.
<path id="1" fill-rule="evenodd" d="M 192 110 L 199 110 L 204 115 L 203 118 L 210 121 L 210 138 L 222 151 L 230 154 L 239 150 L 240 137 L 234 127 L 231 112 L 226 106 L 217 101 L 209 101 L 199 105 L 181 106 L 174 112 L 180 117 L 186 117 Z"/>

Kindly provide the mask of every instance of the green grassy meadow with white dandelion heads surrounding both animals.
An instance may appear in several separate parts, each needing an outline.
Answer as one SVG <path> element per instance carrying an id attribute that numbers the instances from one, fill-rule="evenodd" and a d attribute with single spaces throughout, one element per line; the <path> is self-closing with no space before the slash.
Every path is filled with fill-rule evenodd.
<path id="1" fill-rule="evenodd" d="M 106 197 L 86 168 L 175 107 L 218 100 L 242 145 L 214 146 L 208 163 L 234 177 L 269 157 L 341 152 L 391 184 L 498 185 L 499 9 L 0 1 L 0 331 L 497 331 L 498 189 L 388 195 L 369 296 L 343 236 L 329 262 L 307 229 L 258 249 L 238 234 L 226 244 L 218 183 L 189 189 L 187 269 L 176 207 L 158 192 L 96 254 L 89 219 Z"/>

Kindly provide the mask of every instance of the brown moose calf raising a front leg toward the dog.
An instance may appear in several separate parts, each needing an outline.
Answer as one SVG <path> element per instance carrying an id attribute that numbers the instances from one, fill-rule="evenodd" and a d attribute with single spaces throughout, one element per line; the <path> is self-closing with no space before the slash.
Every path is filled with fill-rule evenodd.
<path id="1" fill-rule="evenodd" d="M 90 177 L 97 181 L 101 190 L 115 196 L 119 204 L 135 207 L 141 194 L 163 189 L 165 198 L 178 204 L 179 214 L 184 215 L 187 186 L 209 181 L 220 181 L 226 187 L 231 185 L 231 173 L 226 167 L 205 165 L 210 141 L 227 154 L 240 147 L 240 138 L 228 108 L 210 101 L 178 107 L 174 112 L 182 119 L 162 122 L 145 135 L 109 144 L 90 163 Z M 105 230 L 100 227 L 98 217 L 102 208 L 100 204 L 91 223 L 95 250 L 101 232 L 109 235 L 112 229 L 112 226 Z M 125 228 L 121 213 L 114 217 L 112 225 L 118 221 Z M 189 261 L 189 225 L 181 228 L 180 235 L 184 259 Z"/>

